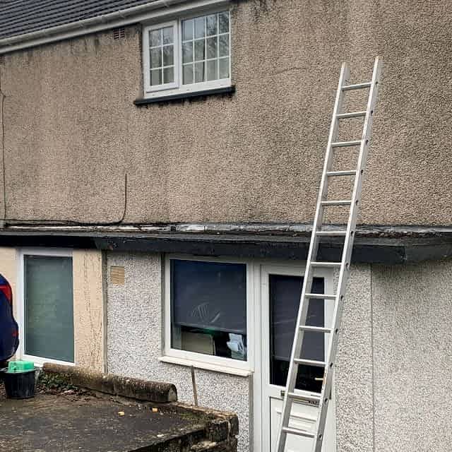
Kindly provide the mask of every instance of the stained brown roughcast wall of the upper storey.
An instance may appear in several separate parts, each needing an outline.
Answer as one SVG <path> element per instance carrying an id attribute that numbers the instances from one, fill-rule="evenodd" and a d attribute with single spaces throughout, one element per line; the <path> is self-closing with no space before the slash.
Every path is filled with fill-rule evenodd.
<path id="1" fill-rule="evenodd" d="M 449 225 L 451 20 L 448 0 L 234 2 L 237 93 L 148 108 L 139 26 L 9 54 L 7 216 L 119 220 L 127 173 L 126 221 L 311 221 L 340 62 L 359 81 L 379 54 L 361 222 Z"/>

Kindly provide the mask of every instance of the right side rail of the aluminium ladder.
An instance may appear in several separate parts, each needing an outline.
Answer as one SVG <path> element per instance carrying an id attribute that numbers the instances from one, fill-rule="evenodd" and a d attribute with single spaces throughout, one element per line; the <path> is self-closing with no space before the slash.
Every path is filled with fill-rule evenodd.
<path id="1" fill-rule="evenodd" d="M 322 389 L 322 398 L 319 402 L 319 420 L 316 426 L 316 432 L 319 432 L 316 437 L 316 444 L 314 447 L 314 452 L 321 452 L 322 442 L 323 442 L 323 430 L 326 424 L 326 414 L 328 408 L 328 397 L 329 391 L 331 391 L 331 386 L 333 383 L 333 373 L 334 373 L 334 362 L 335 355 L 338 349 L 338 327 L 342 319 L 343 313 L 343 299 L 345 296 L 345 289 L 347 285 L 348 275 L 350 273 L 350 261 L 352 257 L 353 242 L 355 240 L 355 229 L 357 222 L 357 215 L 359 212 L 359 203 L 362 190 L 362 180 L 364 167 L 367 162 L 367 153 L 369 150 L 369 137 L 372 129 L 372 119 L 374 107 L 376 104 L 376 97 L 378 95 L 379 80 L 381 75 L 381 61 L 379 57 L 376 57 L 374 63 L 374 71 L 372 75 L 371 88 L 369 90 L 369 97 L 367 101 L 367 113 L 364 119 L 364 126 L 362 131 L 362 143 L 359 149 L 359 157 L 357 162 L 357 177 L 355 177 L 355 184 L 352 194 L 352 206 L 350 207 L 350 215 L 347 224 L 347 234 L 345 236 L 345 244 L 343 248 L 343 258 L 342 266 L 340 268 L 340 274 L 338 279 L 338 294 L 335 299 L 335 308 L 333 313 L 333 333 L 331 338 L 329 338 L 328 345 L 328 362 L 326 363 L 324 383 Z"/>

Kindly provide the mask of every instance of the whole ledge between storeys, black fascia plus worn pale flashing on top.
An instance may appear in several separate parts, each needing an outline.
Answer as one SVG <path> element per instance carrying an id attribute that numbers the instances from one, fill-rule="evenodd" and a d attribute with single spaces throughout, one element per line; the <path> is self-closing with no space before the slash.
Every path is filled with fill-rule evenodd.
<path id="1" fill-rule="evenodd" d="M 261 230 L 243 229 L 244 225 L 239 225 L 242 232 L 237 229 L 226 232 L 225 225 L 216 226 L 222 226 L 222 231 L 213 230 L 211 225 L 209 231 L 203 225 L 7 227 L 0 229 L 0 246 L 50 246 L 297 261 L 307 258 L 310 225 L 280 225 L 278 232 L 275 232 L 275 225 L 268 225 L 273 227 L 272 231 L 264 231 L 263 225 L 251 225 L 261 227 Z M 452 258 L 451 227 L 434 227 L 428 231 L 424 227 L 412 230 L 404 227 L 396 234 L 388 234 L 393 228 L 389 227 L 386 235 L 379 227 L 370 235 L 364 230 L 361 235 L 357 230 L 353 263 L 395 265 Z M 333 239 L 323 240 L 320 244 L 319 253 L 323 260 L 338 261 L 341 251 L 342 245 Z"/>

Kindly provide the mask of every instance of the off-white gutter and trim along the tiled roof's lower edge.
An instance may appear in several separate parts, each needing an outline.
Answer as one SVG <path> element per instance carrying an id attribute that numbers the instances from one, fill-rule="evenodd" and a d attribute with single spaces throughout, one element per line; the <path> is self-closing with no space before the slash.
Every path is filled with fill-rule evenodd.
<path id="1" fill-rule="evenodd" d="M 131 25 L 146 20 L 157 20 L 186 10 L 196 10 L 229 4 L 230 0 L 155 0 L 152 3 L 133 6 L 114 13 L 96 16 L 35 32 L 6 37 L 0 40 L 0 54 L 36 47 L 72 37 Z"/>

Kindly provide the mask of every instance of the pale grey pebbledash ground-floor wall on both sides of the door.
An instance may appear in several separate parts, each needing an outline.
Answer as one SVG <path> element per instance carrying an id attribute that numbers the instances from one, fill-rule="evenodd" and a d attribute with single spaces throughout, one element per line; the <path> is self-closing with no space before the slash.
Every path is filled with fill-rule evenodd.
<path id="1" fill-rule="evenodd" d="M 171 381 L 193 403 L 189 368 L 162 356 L 162 257 L 109 252 L 126 284 L 107 285 L 108 370 Z M 287 265 L 290 262 L 287 261 Z M 340 336 L 338 452 L 450 452 L 452 261 L 352 269 Z M 199 402 L 239 415 L 240 451 L 252 437 L 251 378 L 196 370 Z"/>

